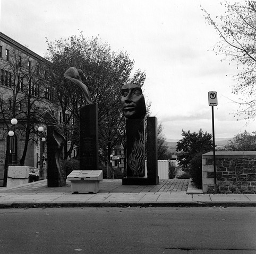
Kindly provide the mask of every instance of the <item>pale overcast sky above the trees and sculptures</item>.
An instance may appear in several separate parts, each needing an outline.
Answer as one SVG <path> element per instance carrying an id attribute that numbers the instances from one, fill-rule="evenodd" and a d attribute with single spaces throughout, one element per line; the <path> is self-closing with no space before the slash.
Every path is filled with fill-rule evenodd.
<path id="1" fill-rule="evenodd" d="M 1 3 L 2 2 L 2 3 Z M 144 95 L 167 139 L 182 129 L 212 133 L 208 92 L 218 93 L 215 137 L 255 131 L 255 122 L 236 121 L 232 95 L 236 67 L 212 51 L 219 41 L 203 17 L 224 13 L 219 1 L 198 0 L 0 0 L 0 31 L 44 56 L 48 40 L 84 36 L 126 50 L 135 69 L 146 71 Z"/>

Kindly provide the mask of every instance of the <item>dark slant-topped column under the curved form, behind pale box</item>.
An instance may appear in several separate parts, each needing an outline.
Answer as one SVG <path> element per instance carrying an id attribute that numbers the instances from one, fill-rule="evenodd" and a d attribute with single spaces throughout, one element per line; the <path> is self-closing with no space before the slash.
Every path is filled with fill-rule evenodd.
<path id="1" fill-rule="evenodd" d="M 80 170 L 98 170 L 98 105 L 80 108 Z"/>

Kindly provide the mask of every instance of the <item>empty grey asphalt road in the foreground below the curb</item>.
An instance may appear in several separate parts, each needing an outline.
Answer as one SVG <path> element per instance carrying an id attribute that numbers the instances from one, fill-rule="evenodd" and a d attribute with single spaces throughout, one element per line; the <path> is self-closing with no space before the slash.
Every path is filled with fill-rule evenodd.
<path id="1" fill-rule="evenodd" d="M 255 207 L 0 210 L 0 253 L 256 253 Z"/>

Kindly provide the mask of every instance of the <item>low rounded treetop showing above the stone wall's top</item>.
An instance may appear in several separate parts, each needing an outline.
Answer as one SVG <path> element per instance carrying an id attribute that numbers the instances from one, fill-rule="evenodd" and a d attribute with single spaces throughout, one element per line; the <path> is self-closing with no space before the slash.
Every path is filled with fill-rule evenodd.
<path id="1" fill-rule="evenodd" d="M 228 140 L 225 146 L 227 151 L 256 151 L 256 135 L 244 131 L 236 134 L 233 140 Z"/>

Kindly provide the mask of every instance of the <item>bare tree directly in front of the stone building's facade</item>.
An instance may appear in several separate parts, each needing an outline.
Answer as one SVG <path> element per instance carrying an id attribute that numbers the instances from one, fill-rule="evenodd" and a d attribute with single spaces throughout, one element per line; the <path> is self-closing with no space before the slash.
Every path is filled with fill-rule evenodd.
<path id="1" fill-rule="evenodd" d="M 10 130 L 10 120 L 18 119 L 20 137 L 24 140 L 20 165 L 24 165 L 30 141 L 37 141 L 35 133 L 39 123 L 47 123 L 46 111 L 50 108 L 45 99 L 44 62 L 36 61 L 29 53 L 12 48 L 8 59 L 1 65 L 0 121 Z M 7 139 L 5 171 L 9 159 Z"/>

